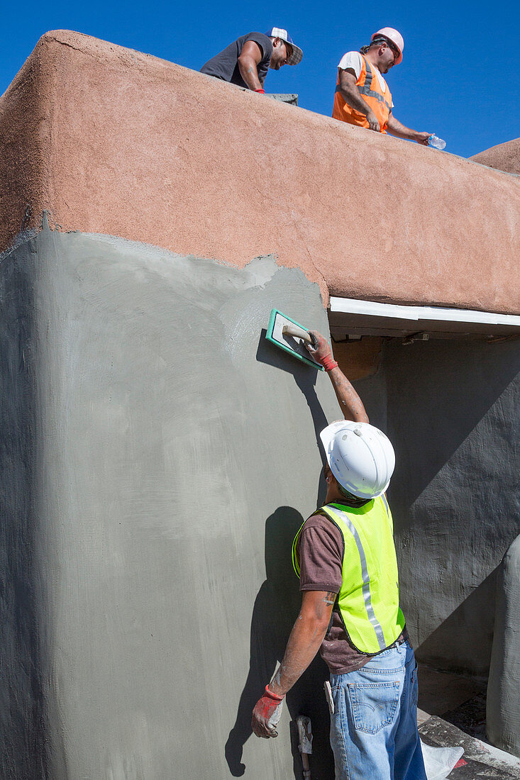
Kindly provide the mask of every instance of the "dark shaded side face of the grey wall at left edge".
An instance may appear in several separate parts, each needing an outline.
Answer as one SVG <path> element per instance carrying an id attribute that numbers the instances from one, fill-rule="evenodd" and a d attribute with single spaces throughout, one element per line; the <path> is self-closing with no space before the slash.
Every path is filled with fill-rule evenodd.
<path id="1" fill-rule="evenodd" d="M 28 246 L 28 245 L 27 245 Z M 37 622 L 34 300 L 30 251 L 2 261 L 0 291 L 0 776 L 48 776 Z M 26 257 L 26 254 L 23 255 Z"/>

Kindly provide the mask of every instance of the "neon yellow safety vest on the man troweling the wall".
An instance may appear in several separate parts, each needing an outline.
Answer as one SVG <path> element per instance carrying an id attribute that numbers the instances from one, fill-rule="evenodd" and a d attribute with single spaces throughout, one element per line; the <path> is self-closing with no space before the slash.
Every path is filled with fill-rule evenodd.
<path id="1" fill-rule="evenodd" d="M 334 608 L 354 647 L 362 653 L 379 653 L 393 644 L 404 628 L 393 521 L 386 498 L 375 498 L 360 509 L 329 504 L 319 512 L 337 526 L 344 539 L 343 584 Z M 301 529 L 293 543 L 293 565 L 298 575 L 297 540 Z"/>

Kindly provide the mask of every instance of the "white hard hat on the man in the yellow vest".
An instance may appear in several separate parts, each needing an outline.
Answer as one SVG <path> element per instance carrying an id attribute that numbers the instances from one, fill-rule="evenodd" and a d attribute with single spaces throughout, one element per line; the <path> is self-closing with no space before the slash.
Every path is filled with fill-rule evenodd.
<path id="1" fill-rule="evenodd" d="M 338 420 L 319 434 L 327 463 L 342 488 L 358 498 L 382 495 L 394 473 L 395 453 L 383 431 Z"/>

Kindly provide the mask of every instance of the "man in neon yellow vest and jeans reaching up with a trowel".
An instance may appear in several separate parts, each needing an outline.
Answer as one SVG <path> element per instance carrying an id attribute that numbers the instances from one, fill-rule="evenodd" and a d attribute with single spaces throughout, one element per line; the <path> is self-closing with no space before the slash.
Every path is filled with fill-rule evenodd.
<path id="1" fill-rule="evenodd" d="M 301 611 L 283 660 L 253 711 L 257 736 L 277 736 L 285 694 L 317 651 L 330 680 L 336 780 L 426 780 L 417 730 L 417 665 L 399 605 L 386 488 L 394 448 L 322 335 L 308 347 L 332 381 L 344 420 L 321 433 L 325 504 L 298 531 L 293 563 Z"/>

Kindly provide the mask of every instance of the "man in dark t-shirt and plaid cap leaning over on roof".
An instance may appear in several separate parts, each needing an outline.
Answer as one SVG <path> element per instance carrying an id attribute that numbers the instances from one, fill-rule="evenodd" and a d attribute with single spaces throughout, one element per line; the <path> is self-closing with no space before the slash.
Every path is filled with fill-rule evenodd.
<path id="1" fill-rule="evenodd" d="M 248 33 L 237 38 L 208 59 L 201 73 L 265 94 L 264 81 L 269 68 L 280 70 L 283 65 L 297 65 L 302 57 L 303 51 L 287 30 L 272 27 L 265 35 Z"/>

